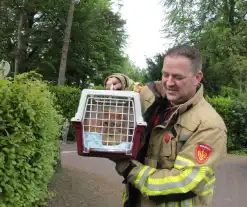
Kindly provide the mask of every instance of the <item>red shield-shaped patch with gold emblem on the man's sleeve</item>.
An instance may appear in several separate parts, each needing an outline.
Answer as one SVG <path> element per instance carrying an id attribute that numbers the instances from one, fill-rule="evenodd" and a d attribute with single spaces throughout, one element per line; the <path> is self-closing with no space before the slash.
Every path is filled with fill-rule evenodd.
<path id="1" fill-rule="evenodd" d="M 199 164 L 205 163 L 212 152 L 212 147 L 206 144 L 198 144 L 195 149 L 196 160 Z"/>

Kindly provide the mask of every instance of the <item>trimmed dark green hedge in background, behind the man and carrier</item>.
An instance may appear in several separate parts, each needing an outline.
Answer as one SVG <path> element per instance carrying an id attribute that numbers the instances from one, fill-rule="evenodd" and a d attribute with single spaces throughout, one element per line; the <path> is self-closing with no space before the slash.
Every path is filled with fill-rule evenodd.
<path id="1" fill-rule="evenodd" d="M 99 86 L 98 89 L 102 89 L 102 86 Z M 81 90 L 66 86 L 53 86 L 51 90 L 56 94 L 57 104 L 60 106 L 64 117 L 70 120 L 76 113 Z M 227 90 L 227 94 L 232 94 L 229 90 Z M 228 149 L 247 148 L 247 99 L 239 99 L 236 94 L 232 98 L 218 96 L 213 98 L 206 97 L 206 99 L 226 123 Z M 75 134 L 72 133 L 71 129 L 69 139 L 75 139 Z"/>

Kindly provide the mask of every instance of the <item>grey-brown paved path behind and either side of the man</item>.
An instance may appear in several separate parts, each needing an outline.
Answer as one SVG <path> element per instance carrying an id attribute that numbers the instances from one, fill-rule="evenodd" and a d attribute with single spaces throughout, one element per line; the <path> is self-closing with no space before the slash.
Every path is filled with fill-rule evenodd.
<path id="1" fill-rule="evenodd" d="M 114 170 L 114 164 L 103 158 L 78 156 L 75 150 L 74 144 L 62 146 L 62 166 L 65 172 L 63 176 L 70 180 L 72 186 L 69 191 L 60 190 L 57 198 L 60 201 L 54 202 L 51 206 L 120 206 L 123 185 L 121 177 Z M 228 155 L 216 172 L 216 176 L 213 206 L 247 206 L 247 156 Z M 63 179 L 61 182 L 65 182 Z M 64 187 L 68 188 L 68 186 Z M 79 196 L 77 201 L 69 201 L 70 197 L 75 197 L 72 193 Z M 94 194 L 95 196 L 92 197 Z M 67 201 L 61 202 L 61 198 L 64 197 Z M 104 199 L 107 201 L 103 201 Z"/>

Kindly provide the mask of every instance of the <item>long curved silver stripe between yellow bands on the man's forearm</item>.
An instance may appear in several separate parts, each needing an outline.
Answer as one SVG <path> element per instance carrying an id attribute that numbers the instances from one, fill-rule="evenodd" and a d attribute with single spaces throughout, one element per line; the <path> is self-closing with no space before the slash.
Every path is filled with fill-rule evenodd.
<path id="1" fill-rule="evenodd" d="M 187 186 L 191 181 L 194 180 L 200 168 L 193 168 L 192 172 L 184 179 L 179 182 L 165 183 L 165 184 L 148 184 L 145 183 L 145 187 L 151 191 L 167 190 L 172 188 L 183 188 Z M 140 182 L 141 183 L 141 182 Z"/>

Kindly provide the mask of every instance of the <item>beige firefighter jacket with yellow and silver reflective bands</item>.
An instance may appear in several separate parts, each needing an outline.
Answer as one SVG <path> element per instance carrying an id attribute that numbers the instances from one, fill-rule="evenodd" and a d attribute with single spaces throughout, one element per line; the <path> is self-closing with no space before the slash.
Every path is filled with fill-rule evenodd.
<path id="1" fill-rule="evenodd" d="M 140 93 L 143 113 L 154 102 L 155 95 L 149 87 L 140 87 L 139 83 L 123 74 L 113 76 L 122 81 L 124 90 Z M 161 82 L 155 83 L 157 90 L 162 93 Z M 204 99 L 203 85 L 188 102 L 174 107 L 168 123 L 152 130 L 144 165 L 132 161 L 134 168 L 127 181 L 140 191 L 141 207 L 210 207 L 216 181 L 215 170 L 227 153 L 226 126 L 220 115 Z M 175 136 L 170 131 L 170 123 L 173 122 Z M 116 165 L 120 175 L 125 168 L 124 164 Z M 164 203 L 149 199 L 188 192 L 193 192 L 196 197 Z M 125 190 L 123 204 L 128 196 L 128 190 Z"/>

